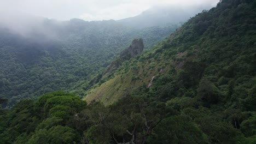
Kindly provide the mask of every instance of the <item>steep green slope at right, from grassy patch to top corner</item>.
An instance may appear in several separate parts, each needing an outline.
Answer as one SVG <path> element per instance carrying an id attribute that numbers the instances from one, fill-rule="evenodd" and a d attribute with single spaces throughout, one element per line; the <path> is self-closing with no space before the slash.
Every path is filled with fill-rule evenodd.
<path id="1" fill-rule="evenodd" d="M 118 97 L 131 93 L 134 87 L 148 86 L 153 76 L 152 91 L 158 89 L 159 84 L 172 82 L 175 83 L 173 91 L 183 89 L 180 96 L 188 91 L 195 95 L 199 82 L 205 79 L 217 86 L 221 97 L 228 97 L 226 92 L 230 85 L 232 89 L 236 89 L 235 86 L 252 88 L 255 79 L 255 5 L 251 3 L 224 1 L 216 8 L 196 15 L 164 42 L 123 63 L 114 74 L 105 75 L 114 78 L 89 91 L 85 99 L 102 98 L 106 103 L 113 103 Z M 168 74 L 170 70 L 172 73 Z M 158 83 L 158 79 L 165 75 L 173 78 Z M 125 78 L 122 81 L 120 77 Z M 248 86 L 242 86 L 243 83 Z M 242 95 L 246 98 L 247 94 Z"/>

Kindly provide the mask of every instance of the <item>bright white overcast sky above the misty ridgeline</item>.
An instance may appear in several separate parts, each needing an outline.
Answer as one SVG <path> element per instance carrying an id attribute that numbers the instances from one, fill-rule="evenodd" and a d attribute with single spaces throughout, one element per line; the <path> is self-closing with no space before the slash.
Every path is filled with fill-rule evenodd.
<path id="1" fill-rule="evenodd" d="M 57 20 L 119 20 L 136 16 L 154 5 L 193 7 L 208 4 L 215 7 L 218 2 L 219 0 L 0 0 L 0 13 L 25 13 Z"/>

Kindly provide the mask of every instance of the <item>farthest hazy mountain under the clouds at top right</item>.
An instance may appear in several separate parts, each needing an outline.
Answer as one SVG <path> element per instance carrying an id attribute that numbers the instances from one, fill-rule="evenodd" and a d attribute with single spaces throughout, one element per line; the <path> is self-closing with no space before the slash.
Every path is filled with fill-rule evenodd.
<path id="1" fill-rule="evenodd" d="M 126 19 L 118 20 L 124 26 L 134 28 L 145 28 L 152 26 L 164 26 L 167 23 L 183 23 L 189 20 L 190 17 L 200 13 L 202 10 L 210 9 L 210 5 L 194 5 L 182 6 L 182 5 L 157 5 L 152 7 L 143 13 L 129 17 Z"/>

